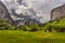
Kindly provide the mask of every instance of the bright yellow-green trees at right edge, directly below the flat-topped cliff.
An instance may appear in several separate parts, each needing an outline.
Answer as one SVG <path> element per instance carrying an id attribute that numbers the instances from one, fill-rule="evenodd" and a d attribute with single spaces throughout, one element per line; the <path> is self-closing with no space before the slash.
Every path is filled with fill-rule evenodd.
<path id="1" fill-rule="evenodd" d="M 65 18 L 61 18 L 60 20 L 52 22 L 51 29 L 54 29 L 56 31 L 64 31 L 65 30 Z"/>

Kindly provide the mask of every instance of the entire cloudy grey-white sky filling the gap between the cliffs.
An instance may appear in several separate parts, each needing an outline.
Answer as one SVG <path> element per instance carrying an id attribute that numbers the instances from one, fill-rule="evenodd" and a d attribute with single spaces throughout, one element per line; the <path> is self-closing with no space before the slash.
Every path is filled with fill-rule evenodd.
<path id="1" fill-rule="evenodd" d="M 51 11 L 63 5 L 65 0 L 1 0 L 14 20 L 24 18 L 37 19 L 40 23 L 50 20 Z"/>

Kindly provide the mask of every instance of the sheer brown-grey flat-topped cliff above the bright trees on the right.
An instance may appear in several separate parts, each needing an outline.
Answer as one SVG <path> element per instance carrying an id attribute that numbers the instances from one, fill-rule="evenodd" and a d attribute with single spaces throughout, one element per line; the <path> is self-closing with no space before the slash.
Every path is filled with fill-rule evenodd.
<path id="1" fill-rule="evenodd" d="M 51 20 L 58 19 L 61 17 L 65 17 L 65 4 L 53 9 L 51 12 Z"/>

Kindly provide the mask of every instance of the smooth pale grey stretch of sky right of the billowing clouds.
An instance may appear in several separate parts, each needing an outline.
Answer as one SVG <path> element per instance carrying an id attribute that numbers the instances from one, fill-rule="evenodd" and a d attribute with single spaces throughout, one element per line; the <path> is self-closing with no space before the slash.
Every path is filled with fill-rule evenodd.
<path id="1" fill-rule="evenodd" d="M 34 8 L 39 12 L 39 16 L 42 17 L 42 23 L 50 20 L 51 11 L 54 8 L 61 6 L 65 3 L 65 0 L 37 0 L 34 3 Z"/>

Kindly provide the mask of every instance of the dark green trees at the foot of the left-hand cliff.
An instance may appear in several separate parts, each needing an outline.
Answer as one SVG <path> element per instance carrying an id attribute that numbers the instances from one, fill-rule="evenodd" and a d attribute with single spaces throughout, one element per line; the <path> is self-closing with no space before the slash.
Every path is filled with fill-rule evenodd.
<path id="1" fill-rule="evenodd" d="M 14 30 L 15 27 L 2 19 L 0 19 L 0 30 Z"/>

